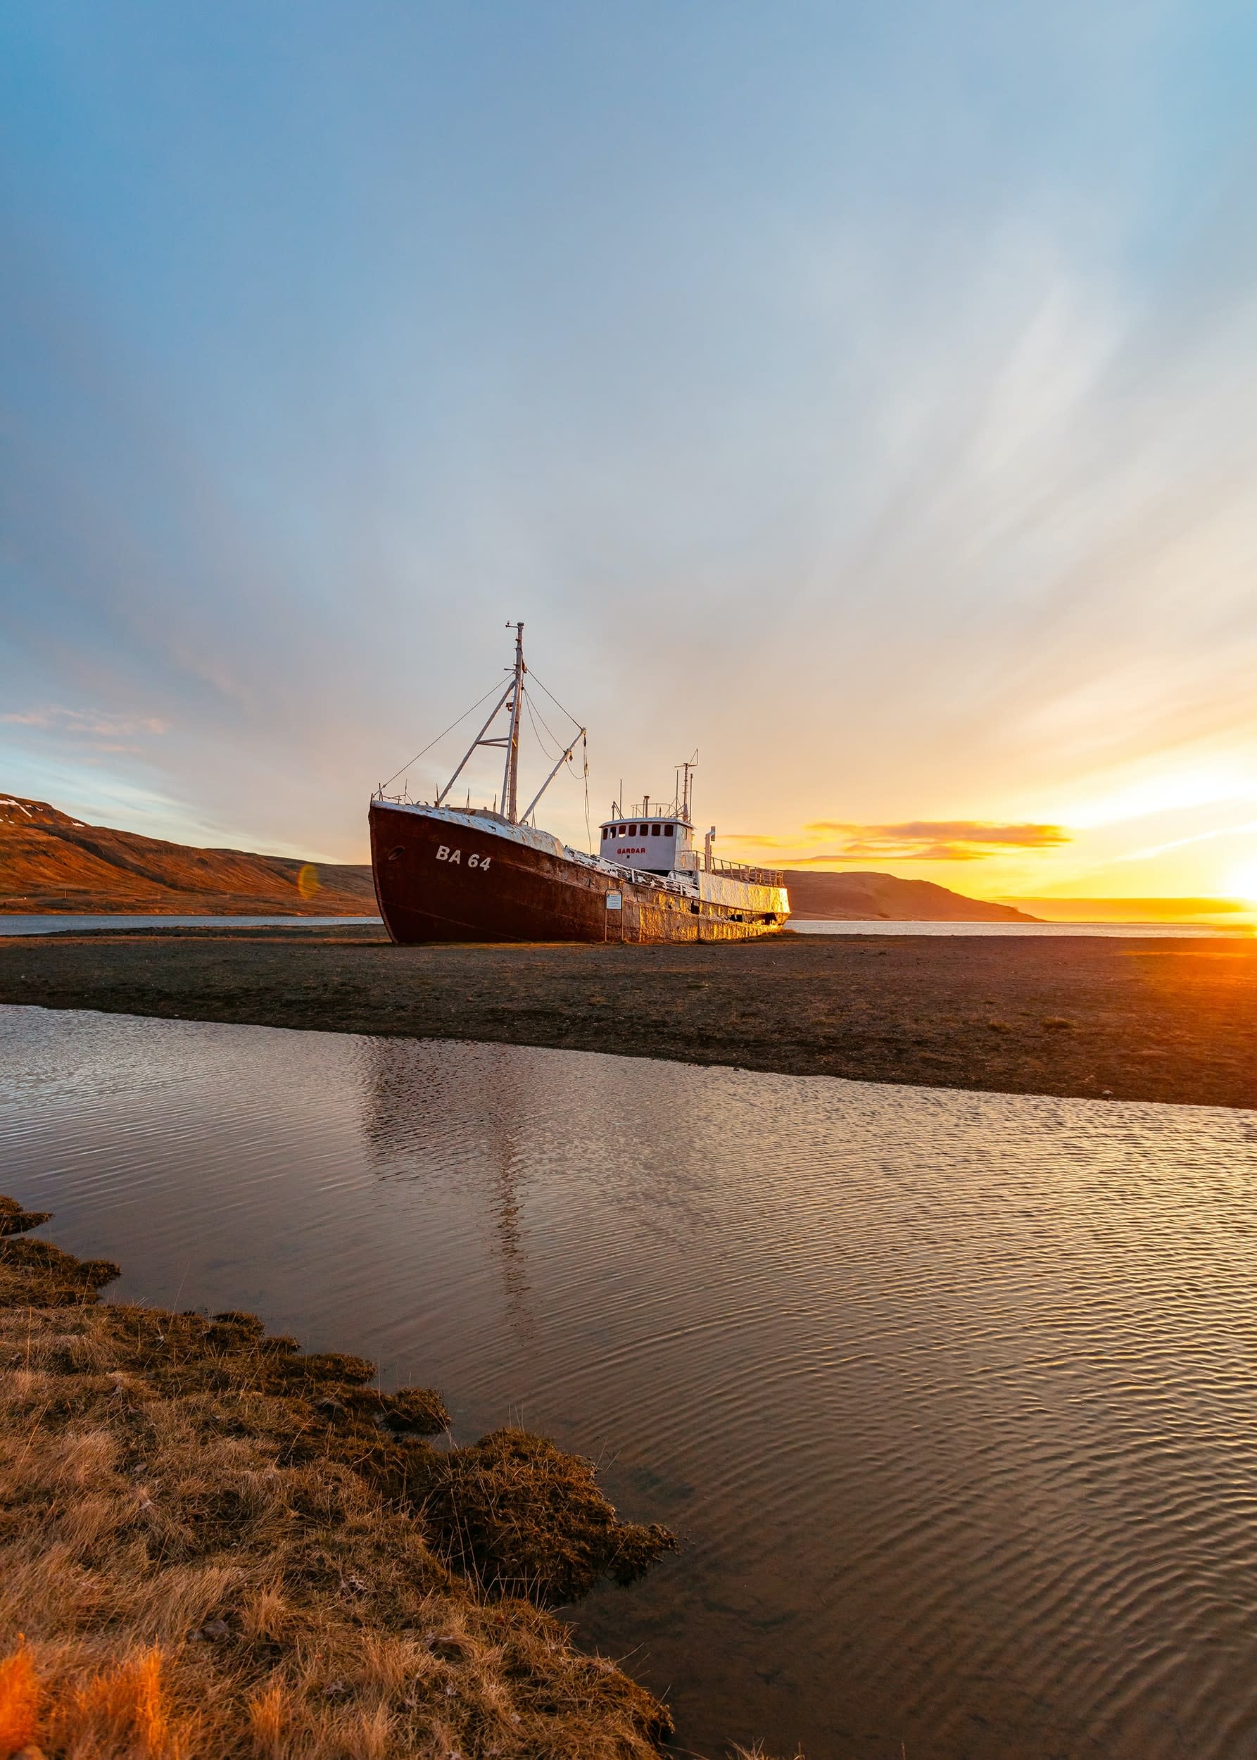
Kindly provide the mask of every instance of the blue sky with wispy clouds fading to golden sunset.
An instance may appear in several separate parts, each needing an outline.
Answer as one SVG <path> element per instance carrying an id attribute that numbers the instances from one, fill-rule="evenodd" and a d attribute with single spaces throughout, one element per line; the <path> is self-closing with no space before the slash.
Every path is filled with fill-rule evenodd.
<path id="1" fill-rule="evenodd" d="M 363 861 L 523 618 L 595 829 L 1257 903 L 1252 5 L 18 0 L 0 116 L 5 790 Z"/>

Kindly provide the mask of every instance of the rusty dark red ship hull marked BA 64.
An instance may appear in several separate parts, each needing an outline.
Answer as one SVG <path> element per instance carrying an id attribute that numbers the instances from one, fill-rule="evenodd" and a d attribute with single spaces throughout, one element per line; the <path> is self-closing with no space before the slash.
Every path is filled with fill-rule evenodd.
<path id="1" fill-rule="evenodd" d="M 780 929 L 785 894 L 746 908 L 651 884 L 491 813 L 375 799 L 371 869 L 394 942 L 745 942 Z M 614 903 L 618 899 L 618 905 Z"/>

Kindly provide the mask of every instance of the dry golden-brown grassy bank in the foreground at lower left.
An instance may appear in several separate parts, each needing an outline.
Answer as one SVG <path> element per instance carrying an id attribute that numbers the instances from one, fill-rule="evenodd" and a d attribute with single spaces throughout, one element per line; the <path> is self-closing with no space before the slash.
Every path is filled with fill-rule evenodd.
<path id="1" fill-rule="evenodd" d="M 0 1760 L 644 1760 L 548 1605 L 673 1545 L 519 1431 L 252 1315 L 104 1306 L 0 1202 Z M 46 1220 L 42 1216 L 39 1221 Z"/>

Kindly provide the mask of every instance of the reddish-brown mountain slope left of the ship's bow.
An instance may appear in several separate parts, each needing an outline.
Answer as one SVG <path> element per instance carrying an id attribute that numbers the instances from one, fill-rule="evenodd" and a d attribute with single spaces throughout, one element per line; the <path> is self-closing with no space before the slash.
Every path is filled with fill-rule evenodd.
<path id="1" fill-rule="evenodd" d="M 373 917 L 371 869 L 194 850 L 0 796 L 0 912 Z"/>

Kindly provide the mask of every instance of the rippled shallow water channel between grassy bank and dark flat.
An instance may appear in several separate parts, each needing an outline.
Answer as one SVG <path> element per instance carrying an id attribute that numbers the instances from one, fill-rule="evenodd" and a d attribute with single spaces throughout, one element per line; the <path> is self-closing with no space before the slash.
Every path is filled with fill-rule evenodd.
<path id="1" fill-rule="evenodd" d="M 1257 1116 L 0 1008 L 0 1190 L 597 1456 L 680 1742 L 1257 1749 Z"/>

